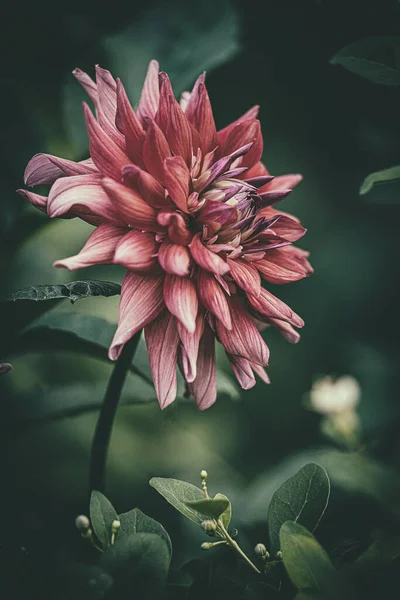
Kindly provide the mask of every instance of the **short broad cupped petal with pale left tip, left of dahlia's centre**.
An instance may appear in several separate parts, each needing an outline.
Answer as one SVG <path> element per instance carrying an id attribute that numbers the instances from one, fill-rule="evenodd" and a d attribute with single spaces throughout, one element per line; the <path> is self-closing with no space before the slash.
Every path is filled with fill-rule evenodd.
<path id="1" fill-rule="evenodd" d="M 115 249 L 114 263 L 131 271 L 148 271 L 157 264 L 157 248 L 154 234 L 129 231 Z"/>

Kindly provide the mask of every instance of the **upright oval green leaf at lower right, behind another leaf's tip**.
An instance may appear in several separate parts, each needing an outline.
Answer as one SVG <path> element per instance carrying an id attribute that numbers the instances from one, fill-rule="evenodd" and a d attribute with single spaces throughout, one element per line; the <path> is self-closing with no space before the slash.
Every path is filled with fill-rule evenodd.
<path id="1" fill-rule="evenodd" d="M 330 484 L 325 469 L 305 465 L 272 496 L 268 508 L 268 529 L 272 552 L 279 550 L 279 531 L 285 521 L 299 522 L 314 531 L 328 505 Z"/>

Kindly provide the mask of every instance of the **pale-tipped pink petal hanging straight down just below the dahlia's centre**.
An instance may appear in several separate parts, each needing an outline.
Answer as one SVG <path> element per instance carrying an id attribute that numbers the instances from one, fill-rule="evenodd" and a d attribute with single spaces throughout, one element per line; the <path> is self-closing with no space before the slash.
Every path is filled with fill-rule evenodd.
<path id="1" fill-rule="evenodd" d="M 199 302 L 193 280 L 167 273 L 164 279 L 164 302 L 189 333 L 194 333 Z"/>

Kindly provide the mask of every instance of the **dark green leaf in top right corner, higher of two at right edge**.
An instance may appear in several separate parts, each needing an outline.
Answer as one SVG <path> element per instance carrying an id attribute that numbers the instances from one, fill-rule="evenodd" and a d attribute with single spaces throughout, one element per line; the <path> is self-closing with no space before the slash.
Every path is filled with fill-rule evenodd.
<path id="1" fill-rule="evenodd" d="M 363 38 L 342 48 L 331 59 L 372 83 L 400 85 L 400 37 Z"/>

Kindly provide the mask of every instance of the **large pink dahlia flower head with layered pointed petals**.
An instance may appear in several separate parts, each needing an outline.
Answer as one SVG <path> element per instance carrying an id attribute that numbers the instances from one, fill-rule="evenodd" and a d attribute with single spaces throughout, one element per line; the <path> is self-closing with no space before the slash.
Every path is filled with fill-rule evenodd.
<path id="1" fill-rule="evenodd" d="M 51 218 L 95 226 L 81 252 L 55 266 L 127 269 L 110 359 L 144 328 L 161 408 L 176 397 L 177 363 L 198 408 L 215 402 L 215 339 L 244 389 L 254 373 L 268 382 L 259 330 L 272 325 L 295 343 L 303 320 L 261 278 L 281 284 L 312 272 L 307 252 L 292 246 L 305 229 L 273 208 L 301 175 L 274 178 L 260 162 L 258 107 L 217 131 L 204 75 L 179 103 L 152 61 L 136 111 L 109 71 L 96 67 L 96 81 L 74 75 L 96 109 L 95 118 L 83 106 L 90 158 L 37 154 L 25 183 L 49 184 L 49 195 L 21 194 Z"/>

